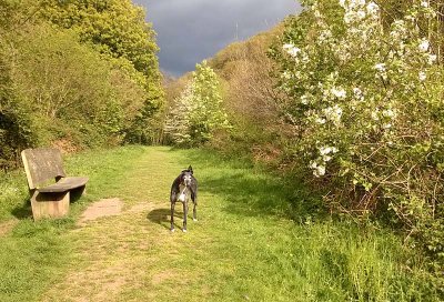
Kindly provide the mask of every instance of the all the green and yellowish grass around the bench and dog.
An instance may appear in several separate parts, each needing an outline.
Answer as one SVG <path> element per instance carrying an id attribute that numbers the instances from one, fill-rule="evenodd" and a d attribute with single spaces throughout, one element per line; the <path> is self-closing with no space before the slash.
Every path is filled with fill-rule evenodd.
<path id="1" fill-rule="evenodd" d="M 200 182 L 199 222 L 180 232 L 178 209 L 171 233 L 170 185 L 189 164 Z M 395 235 L 306 219 L 314 197 L 242 162 L 127 147 L 71 157 L 67 170 L 90 177 L 88 195 L 68 219 L 22 214 L 0 236 L 0 301 L 440 301 L 423 260 Z M 77 226 L 103 198 L 123 200 L 124 211 Z M 23 194 L 16 203 L 0 211 L 3 221 L 26 213 Z"/>

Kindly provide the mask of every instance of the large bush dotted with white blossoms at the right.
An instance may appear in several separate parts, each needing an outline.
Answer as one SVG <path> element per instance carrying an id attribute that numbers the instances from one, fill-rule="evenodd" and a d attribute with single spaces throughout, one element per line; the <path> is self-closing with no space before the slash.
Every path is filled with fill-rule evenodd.
<path id="1" fill-rule="evenodd" d="M 307 11 L 314 21 L 297 31 L 310 32 L 310 38 L 289 34 L 294 38 L 282 44 L 281 88 L 294 100 L 290 112 L 296 115 L 291 120 L 310 133 L 302 135 L 297 149 L 312 159 L 309 167 L 315 177 L 324 175 L 335 159 L 353 157 L 350 150 L 363 140 L 379 137 L 392 143 L 405 114 L 403 100 L 412 91 L 422 93 L 417 87 L 426 83 L 436 62 L 431 41 L 417 30 L 418 12 L 433 16 L 428 2 L 418 1 L 416 10 L 386 31 L 376 2 L 337 1 L 340 22 L 329 19 L 322 1 L 312 1 Z M 347 148 L 339 152 L 335 142 Z M 313 144 L 324 147 L 314 152 Z"/>

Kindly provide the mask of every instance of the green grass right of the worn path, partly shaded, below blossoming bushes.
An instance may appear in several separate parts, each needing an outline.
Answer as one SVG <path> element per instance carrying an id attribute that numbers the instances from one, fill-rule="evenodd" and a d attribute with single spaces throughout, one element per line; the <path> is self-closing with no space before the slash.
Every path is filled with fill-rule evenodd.
<path id="1" fill-rule="evenodd" d="M 224 241 L 212 251 L 224 261 L 209 263 L 216 300 L 440 301 L 424 259 L 392 232 L 322 215 L 315 194 L 297 183 L 193 152 L 221 209 L 209 213 Z"/>

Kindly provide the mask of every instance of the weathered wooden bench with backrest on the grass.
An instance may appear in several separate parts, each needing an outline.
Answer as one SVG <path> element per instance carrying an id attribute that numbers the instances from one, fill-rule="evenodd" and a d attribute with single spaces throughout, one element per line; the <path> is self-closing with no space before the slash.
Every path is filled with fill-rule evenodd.
<path id="1" fill-rule="evenodd" d="M 69 213 L 70 191 L 84 192 L 88 178 L 67 178 L 58 149 L 37 148 L 21 152 L 31 195 L 32 215 L 60 218 Z"/>

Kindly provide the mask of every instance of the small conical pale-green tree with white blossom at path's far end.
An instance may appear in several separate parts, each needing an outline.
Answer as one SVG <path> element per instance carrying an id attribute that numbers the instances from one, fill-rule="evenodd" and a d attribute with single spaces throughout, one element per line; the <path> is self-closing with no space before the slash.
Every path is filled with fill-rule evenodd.
<path id="1" fill-rule="evenodd" d="M 199 145 L 213 133 L 229 128 L 218 76 L 206 61 L 196 64 L 193 79 L 186 85 L 165 123 L 165 133 L 176 144 Z"/>

